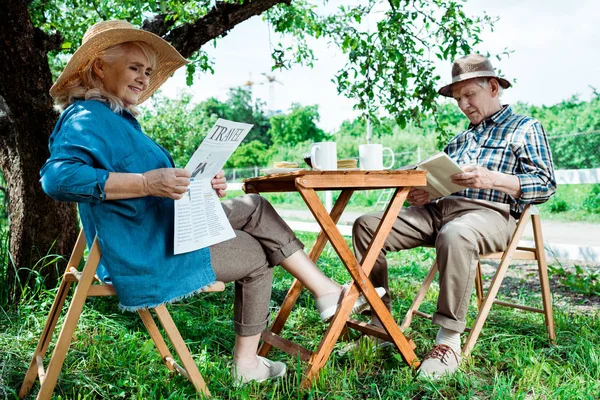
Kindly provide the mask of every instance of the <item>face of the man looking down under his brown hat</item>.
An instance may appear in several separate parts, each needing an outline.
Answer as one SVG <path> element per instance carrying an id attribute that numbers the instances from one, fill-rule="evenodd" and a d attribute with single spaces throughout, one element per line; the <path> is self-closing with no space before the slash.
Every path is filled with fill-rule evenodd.
<path id="1" fill-rule="evenodd" d="M 487 88 L 479 86 L 475 79 L 458 82 L 452 86 L 452 97 L 473 125 L 500 109 L 498 83 L 495 80 L 490 80 Z"/>

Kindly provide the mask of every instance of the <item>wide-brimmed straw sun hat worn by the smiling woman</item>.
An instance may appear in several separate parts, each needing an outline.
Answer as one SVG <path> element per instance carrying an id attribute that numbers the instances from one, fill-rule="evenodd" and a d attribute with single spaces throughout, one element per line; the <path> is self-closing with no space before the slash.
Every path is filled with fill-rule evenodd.
<path id="1" fill-rule="evenodd" d="M 156 66 L 138 104 L 146 101 L 173 72 L 188 63 L 173 46 L 153 33 L 138 29 L 127 21 L 102 21 L 92 25 L 83 35 L 81 46 L 50 88 L 50 96 L 54 97 L 56 92 L 83 70 L 88 62 L 96 58 L 98 53 L 125 42 L 144 42 L 156 51 Z"/>

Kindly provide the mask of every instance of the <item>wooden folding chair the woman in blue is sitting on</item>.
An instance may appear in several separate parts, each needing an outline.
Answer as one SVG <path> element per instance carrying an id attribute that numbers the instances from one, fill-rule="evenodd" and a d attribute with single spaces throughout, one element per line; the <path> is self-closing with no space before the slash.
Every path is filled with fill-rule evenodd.
<path id="1" fill-rule="evenodd" d="M 77 268 L 83 259 L 85 245 L 86 238 L 82 230 L 79 233 L 79 237 L 75 243 L 75 248 L 73 249 L 73 253 L 71 254 L 65 274 L 54 299 L 54 303 L 52 304 L 52 308 L 48 314 L 48 320 L 46 321 L 46 325 L 44 326 L 44 330 L 40 336 L 38 346 L 33 353 L 33 357 L 31 358 L 29 369 L 27 370 L 23 385 L 19 391 L 20 399 L 29 394 L 33 384 L 36 381 L 36 377 L 39 378 L 40 381 L 40 391 L 37 395 L 37 399 L 49 399 L 52 396 L 52 392 L 56 386 L 58 375 L 65 361 L 67 350 L 69 349 L 69 345 L 73 338 L 73 333 L 75 332 L 75 328 L 77 326 L 77 322 L 79 321 L 79 317 L 81 315 L 81 311 L 83 310 L 83 305 L 86 299 L 88 297 L 116 295 L 115 289 L 112 285 L 103 284 L 96 276 L 96 269 L 98 268 L 101 255 L 100 246 L 98 245 L 97 239 L 95 239 L 92 244 L 83 270 L 81 272 L 78 271 Z M 69 305 L 69 309 L 58 336 L 54 352 L 52 353 L 50 363 L 48 364 L 48 368 L 44 370 L 44 355 L 46 354 L 48 346 L 50 345 L 54 328 L 58 322 L 58 318 L 61 314 L 65 299 L 69 293 L 69 289 L 74 283 L 76 283 L 76 288 L 71 300 L 71 304 Z M 221 292 L 224 289 L 225 285 L 223 282 L 216 282 L 205 291 Z M 142 318 L 150 337 L 154 341 L 154 344 L 156 345 L 156 348 L 158 349 L 165 366 L 169 370 L 176 370 L 181 375 L 186 377 L 194 385 L 196 391 L 201 392 L 206 396 L 210 396 L 210 392 L 206 387 L 206 383 L 204 382 L 202 375 L 200 375 L 200 371 L 198 371 L 198 367 L 196 366 L 192 355 L 183 341 L 179 330 L 177 330 L 171 315 L 167 311 L 167 308 L 164 305 L 161 305 L 154 308 L 154 312 L 156 313 L 156 316 L 165 330 L 167 337 L 171 341 L 175 351 L 177 352 L 181 364 L 183 364 L 183 367 L 179 365 L 171 355 L 171 352 L 169 351 L 162 334 L 159 332 L 158 327 L 154 322 L 154 318 L 150 314 L 150 310 L 139 310 L 138 314 Z"/>

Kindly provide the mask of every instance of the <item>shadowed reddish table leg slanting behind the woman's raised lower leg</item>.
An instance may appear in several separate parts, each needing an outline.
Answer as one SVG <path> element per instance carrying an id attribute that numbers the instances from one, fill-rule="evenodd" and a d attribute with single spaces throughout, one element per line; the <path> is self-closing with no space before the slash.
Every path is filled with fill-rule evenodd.
<path id="1" fill-rule="evenodd" d="M 352 190 L 342 191 L 342 193 L 338 197 L 337 201 L 335 202 L 335 205 L 333 206 L 333 208 L 331 210 L 331 215 L 330 215 L 331 220 L 335 221 L 335 223 L 337 223 L 337 221 L 339 221 L 340 217 L 342 216 L 342 213 L 343 213 L 344 209 L 346 208 L 346 205 L 348 204 L 350 197 L 352 197 L 352 193 L 353 193 Z M 323 249 L 325 248 L 325 245 L 327 244 L 327 240 L 328 240 L 327 235 L 325 235 L 325 233 L 323 231 L 321 231 L 319 233 L 319 235 L 317 236 L 317 240 L 316 240 L 314 246 L 312 247 L 310 253 L 308 254 L 310 259 L 313 260 L 313 262 L 316 263 L 317 260 L 319 259 L 319 257 L 321 256 L 321 252 L 323 252 Z M 302 293 L 303 287 L 304 287 L 304 285 L 302 285 L 302 283 L 300 281 L 298 281 L 296 279 L 294 280 L 294 283 L 292 283 L 292 286 L 288 290 L 288 292 L 285 296 L 285 299 L 283 300 L 283 303 L 281 304 L 281 307 L 279 308 L 279 312 L 277 313 L 277 316 L 275 317 L 273 324 L 271 325 L 270 328 L 268 328 L 269 332 L 275 333 L 277 335 L 279 333 L 281 333 L 281 331 L 283 330 L 283 327 L 285 325 L 285 322 L 287 321 L 288 317 L 290 316 L 290 313 L 292 312 L 292 309 L 294 308 L 294 305 L 296 304 L 296 301 L 298 301 L 298 297 L 300 297 L 300 293 Z M 263 336 L 263 339 L 266 339 L 266 337 Z M 272 347 L 272 345 L 270 343 L 263 341 L 260 348 L 258 349 L 258 355 L 262 356 L 262 357 L 266 357 L 267 354 L 269 354 L 271 347 Z"/>

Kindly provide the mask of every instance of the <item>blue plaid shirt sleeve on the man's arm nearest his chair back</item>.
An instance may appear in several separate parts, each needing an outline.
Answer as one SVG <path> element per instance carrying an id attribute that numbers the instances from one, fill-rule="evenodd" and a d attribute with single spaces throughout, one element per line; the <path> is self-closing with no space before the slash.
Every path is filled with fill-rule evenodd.
<path id="1" fill-rule="evenodd" d="M 517 174 L 521 184 L 518 202 L 524 205 L 547 201 L 556 192 L 556 177 L 548 139 L 539 122 L 527 129 L 517 156 L 521 167 Z"/>

